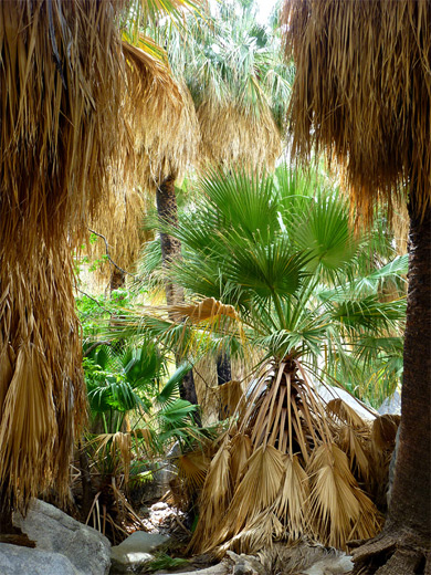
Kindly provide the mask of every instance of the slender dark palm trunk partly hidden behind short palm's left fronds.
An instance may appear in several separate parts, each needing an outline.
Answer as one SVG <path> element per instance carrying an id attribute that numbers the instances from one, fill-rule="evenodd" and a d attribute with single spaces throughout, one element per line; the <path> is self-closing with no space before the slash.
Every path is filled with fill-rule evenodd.
<path id="1" fill-rule="evenodd" d="M 175 194 L 175 176 L 169 176 L 157 188 L 156 192 L 157 213 L 161 223 L 169 226 L 178 224 L 178 207 L 177 197 Z M 172 238 L 168 233 L 160 233 L 161 259 L 164 268 L 167 268 L 171 261 L 181 258 L 181 242 Z M 185 294 L 182 288 L 174 283 L 166 282 L 166 303 L 168 305 L 176 305 L 183 303 Z M 197 405 L 198 398 L 196 395 L 193 373 L 190 370 L 180 385 L 180 396 L 182 399 Z M 198 425 L 200 425 L 197 420 Z"/>

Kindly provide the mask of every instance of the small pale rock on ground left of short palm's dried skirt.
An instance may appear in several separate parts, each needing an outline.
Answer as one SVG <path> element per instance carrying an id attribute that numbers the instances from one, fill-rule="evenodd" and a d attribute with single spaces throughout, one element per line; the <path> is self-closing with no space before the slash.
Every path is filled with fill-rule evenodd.
<path id="1" fill-rule="evenodd" d="M 135 531 L 119 545 L 112 547 L 112 571 L 115 573 L 134 573 L 140 569 L 145 563 L 154 560 L 157 547 L 169 541 L 166 535 Z"/>

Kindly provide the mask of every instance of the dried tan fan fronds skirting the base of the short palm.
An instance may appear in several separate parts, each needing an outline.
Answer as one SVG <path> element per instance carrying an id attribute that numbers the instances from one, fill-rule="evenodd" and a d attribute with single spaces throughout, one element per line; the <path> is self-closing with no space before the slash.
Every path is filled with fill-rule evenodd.
<path id="1" fill-rule="evenodd" d="M 191 547 L 219 555 L 254 553 L 274 540 L 302 536 L 345 547 L 351 537 L 375 535 L 380 515 L 356 480 L 368 479 L 370 449 L 353 441 L 348 457 L 336 445 L 345 430 L 359 435 L 358 424 L 346 405 L 328 409 L 295 360 L 285 358 L 256 379 L 230 439 L 211 461 Z M 223 510 L 212 504 L 213 481 L 220 477 Z"/>

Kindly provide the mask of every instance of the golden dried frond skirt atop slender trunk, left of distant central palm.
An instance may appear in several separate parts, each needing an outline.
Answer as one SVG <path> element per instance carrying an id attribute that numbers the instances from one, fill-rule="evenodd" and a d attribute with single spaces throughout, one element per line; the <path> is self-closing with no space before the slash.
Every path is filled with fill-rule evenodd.
<path id="1" fill-rule="evenodd" d="M 127 42 L 123 50 L 137 177 L 154 189 L 168 176 L 181 176 L 195 160 L 199 125 L 187 87 L 174 79 L 168 64 Z"/>

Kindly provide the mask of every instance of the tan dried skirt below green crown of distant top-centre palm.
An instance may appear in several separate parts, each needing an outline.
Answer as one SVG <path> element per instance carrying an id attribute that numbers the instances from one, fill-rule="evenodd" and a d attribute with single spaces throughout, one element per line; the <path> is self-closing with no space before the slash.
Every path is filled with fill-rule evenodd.
<path id="1" fill-rule="evenodd" d="M 282 137 L 270 107 L 259 114 L 229 102 L 207 100 L 198 108 L 202 134 L 202 165 L 273 170 L 282 153 Z"/>

